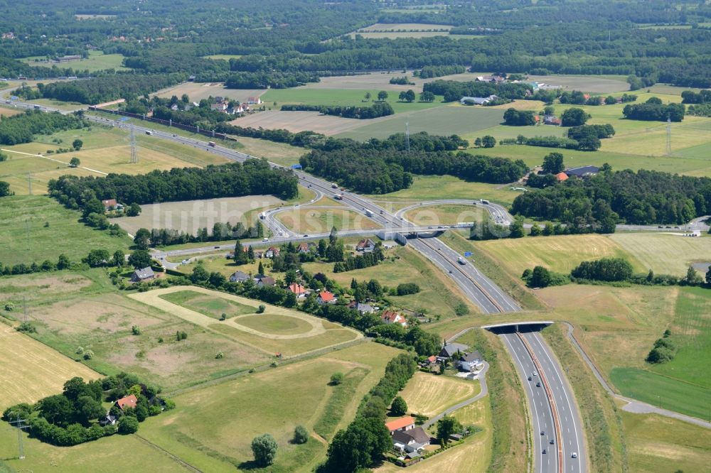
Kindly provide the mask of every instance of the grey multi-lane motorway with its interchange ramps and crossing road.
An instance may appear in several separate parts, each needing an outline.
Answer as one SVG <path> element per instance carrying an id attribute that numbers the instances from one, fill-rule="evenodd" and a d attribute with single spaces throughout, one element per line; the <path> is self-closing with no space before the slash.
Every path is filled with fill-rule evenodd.
<path id="1" fill-rule="evenodd" d="M 22 108 L 35 108 L 32 104 L 24 104 L 22 102 L 14 102 L 17 107 Z M 45 111 L 54 111 L 50 107 L 39 107 Z M 95 121 L 100 124 L 105 124 L 108 126 L 118 126 L 124 129 L 134 129 L 134 131 L 139 133 L 145 133 L 146 131 L 151 131 L 150 136 L 154 136 L 159 139 L 166 139 L 174 141 L 177 143 L 183 143 L 186 146 L 193 146 L 194 148 L 200 148 L 201 150 L 208 151 L 210 153 L 215 153 L 218 156 L 223 156 L 232 161 L 245 161 L 252 156 L 248 156 L 245 153 L 240 153 L 228 148 L 223 148 L 221 146 L 208 146 L 205 141 L 196 141 L 193 138 L 186 138 L 179 134 L 170 134 L 164 131 L 156 131 L 151 129 L 149 126 L 138 126 L 135 124 L 129 124 L 121 121 L 113 121 L 110 119 L 105 119 L 99 116 L 87 115 L 87 119 Z M 273 167 L 282 167 L 272 163 Z M 294 173 L 299 177 L 299 183 L 304 185 L 304 187 L 309 187 L 311 190 L 316 192 L 316 197 L 314 200 L 318 200 L 322 195 L 332 195 L 333 188 L 331 183 L 316 178 L 313 175 L 301 172 L 299 170 L 294 170 Z M 376 205 L 360 195 L 354 195 L 351 192 L 342 192 L 343 199 L 341 203 L 349 207 L 355 212 L 365 214 L 365 210 L 370 210 L 372 212 L 370 219 L 374 222 L 380 224 L 383 227 L 381 231 L 392 231 L 392 232 L 426 232 L 432 229 L 424 228 L 421 226 L 415 226 L 408 222 L 404 214 L 409 208 L 414 208 L 418 206 L 434 205 L 433 202 L 421 202 L 419 205 L 413 205 L 407 209 L 402 209 L 396 213 L 391 213 L 383 207 Z M 445 200 L 439 203 L 454 203 L 454 204 L 472 204 L 474 201 L 462 201 L 462 200 Z M 479 202 L 481 207 L 486 208 L 488 212 L 491 212 L 493 218 L 496 222 L 501 224 L 510 223 L 510 215 L 501 206 L 498 205 L 485 205 L 483 202 Z M 280 210 L 281 211 L 281 210 Z M 277 242 L 283 241 L 301 241 L 304 239 L 314 239 L 319 237 L 324 237 L 326 234 L 309 235 L 309 237 L 304 237 L 302 234 L 292 234 L 286 227 L 278 222 L 274 218 L 274 210 L 269 212 L 265 221 L 267 222 L 272 232 L 274 232 L 274 237 L 272 240 Z M 439 229 L 434 229 L 435 231 Z M 281 232 L 281 236 L 279 236 Z M 355 230 L 352 232 L 339 232 L 341 235 L 348 234 L 373 234 L 373 230 L 369 232 L 364 232 L 363 230 Z M 518 312 L 521 310 L 520 306 L 506 294 L 501 288 L 498 288 L 495 283 L 493 283 L 489 278 L 484 276 L 475 266 L 472 264 L 474 261 L 469 259 L 466 263 L 460 264 L 458 262 L 459 257 L 454 249 L 449 248 L 444 242 L 436 237 L 432 238 L 412 238 L 408 239 L 408 244 L 412 246 L 413 249 L 419 251 L 427 259 L 432 261 L 435 266 L 442 269 L 451 280 L 456 283 L 463 293 L 476 305 L 481 308 L 481 311 L 486 314 L 491 313 L 503 313 L 503 312 Z M 263 244 L 261 241 L 253 242 L 252 244 Z M 208 251 L 215 250 L 225 250 L 233 249 L 232 245 L 223 246 L 205 246 L 201 249 L 189 249 L 189 250 L 178 250 L 178 251 L 163 251 L 157 252 L 155 256 L 159 258 L 166 258 L 166 256 L 180 256 L 180 255 L 190 255 L 204 253 Z M 562 374 L 562 369 L 560 365 L 555 361 L 555 357 L 550 352 L 550 348 L 547 347 L 545 342 L 543 342 L 542 337 L 538 335 L 537 332 L 526 332 L 522 336 L 516 334 L 506 334 L 502 335 L 503 340 L 512 354 L 515 361 L 519 374 L 521 376 L 523 384 L 526 386 L 525 391 L 528 396 L 528 403 L 530 406 L 530 414 L 533 418 L 533 428 L 534 428 L 534 450 L 535 450 L 535 472 L 586 472 L 586 460 L 587 453 L 585 452 L 584 437 L 582 435 L 582 423 L 580 422 L 579 413 L 577 411 L 577 406 L 575 405 L 572 392 L 567 384 L 565 376 Z M 538 361 L 538 366 L 534 366 L 534 361 L 532 354 L 525 348 L 525 339 L 528 342 L 529 349 L 533 352 L 533 357 Z M 528 381 L 528 376 L 533 373 L 533 371 L 538 372 L 538 376 L 535 378 L 545 379 L 545 386 L 538 388 L 535 386 L 537 382 L 536 379 L 533 381 Z M 549 398 L 546 396 L 546 391 L 550 391 L 550 396 L 552 401 L 554 401 L 554 406 L 549 403 Z M 555 433 L 555 421 L 554 413 L 557 415 L 557 423 L 560 425 L 558 430 L 558 435 Z M 544 432 L 544 435 L 540 435 Z M 554 439 L 554 445 L 550 445 L 550 439 Z M 557 442 L 561 442 L 557 445 Z M 560 453 L 559 453 L 560 447 Z M 547 450 L 546 454 L 542 453 L 543 449 Z M 575 452 L 577 458 L 573 458 L 572 454 Z M 559 467 L 560 464 L 560 467 Z"/>

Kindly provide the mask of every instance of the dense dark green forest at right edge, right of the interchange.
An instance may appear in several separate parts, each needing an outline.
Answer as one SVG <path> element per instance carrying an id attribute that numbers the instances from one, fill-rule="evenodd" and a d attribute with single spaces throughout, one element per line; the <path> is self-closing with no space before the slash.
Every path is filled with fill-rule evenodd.
<path id="1" fill-rule="evenodd" d="M 711 210 L 711 179 L 657 171 L 604 170 L 525 192 L 511 212 L 525 217 L 598 227 L 605 219 L 627 224 L 685 224 Z M 614 226 L 613 226 L 614 227 Z"/>

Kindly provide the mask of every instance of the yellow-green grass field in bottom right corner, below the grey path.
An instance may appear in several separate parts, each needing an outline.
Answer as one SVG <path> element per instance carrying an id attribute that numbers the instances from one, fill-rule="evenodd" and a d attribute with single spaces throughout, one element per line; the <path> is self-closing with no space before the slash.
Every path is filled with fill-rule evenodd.
<path id="1" fill-rule="evenodd" d="M 703 472 L 711 463 L 711 432 L 654 414 L 620 412 L 629 469 L 638 473 Z"/>

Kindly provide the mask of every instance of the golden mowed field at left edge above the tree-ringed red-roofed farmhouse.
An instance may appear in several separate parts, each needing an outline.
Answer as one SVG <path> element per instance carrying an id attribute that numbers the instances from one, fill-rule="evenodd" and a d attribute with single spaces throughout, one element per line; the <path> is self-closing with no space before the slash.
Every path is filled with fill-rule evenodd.
<path id="1" fill-rule="evenodd" d="M 100 376 L 7 325 L 0 325 L 0 347 L 0 410 L 60 393 L 74 376 L 85 381 Z"/>

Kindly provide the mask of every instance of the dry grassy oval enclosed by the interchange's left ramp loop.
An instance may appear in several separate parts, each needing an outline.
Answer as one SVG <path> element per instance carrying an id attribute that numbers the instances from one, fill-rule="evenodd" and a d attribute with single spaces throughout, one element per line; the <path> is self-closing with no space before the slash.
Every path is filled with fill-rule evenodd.
<path id="1" fill-rule="evenodd" d="M 338 230 L 378 229 L 380 224 L 353 210 L 338 208 L 301 207 L 297 210 L 279 212 L 277 219 L 296 233 L 327 233 Z"/>

